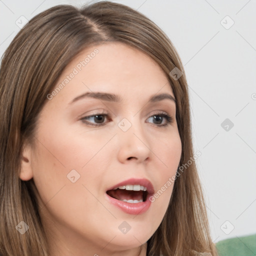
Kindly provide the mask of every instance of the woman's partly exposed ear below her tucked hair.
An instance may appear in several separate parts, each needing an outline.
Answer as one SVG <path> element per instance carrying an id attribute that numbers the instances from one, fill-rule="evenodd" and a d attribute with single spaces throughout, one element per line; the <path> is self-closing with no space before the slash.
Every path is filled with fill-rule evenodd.
<path id="1" fill-rule="evenodd" d="M 19 178 L 22 180 L 29 180 L 33 177 L 32 164 L 31 164 L 32 149 L 29 145 L 23 147 L 21 155 L 21 168 Z"/>

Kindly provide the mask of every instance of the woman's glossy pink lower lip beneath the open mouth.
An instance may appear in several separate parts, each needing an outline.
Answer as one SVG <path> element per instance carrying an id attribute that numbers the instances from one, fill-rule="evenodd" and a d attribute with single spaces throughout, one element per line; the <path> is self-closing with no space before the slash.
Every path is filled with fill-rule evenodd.
<path id="1" fill-rule="evenodd" d="M 144 202 L 135 202 L 135 203 L 130 203 L 130 202 L 125 202 L 125 201 L 120 201 L 117 200 L 111 196 L 109 196 L 107 193 L 105 193 L 107 200 L 114 204 L 115 206 L 119 207 L 122 211 L 128 213 L 128 214 L 142 214 L 151 205 L 151 201 L 149 200 L 149 196 L 147 196 L 146 200 Z"/>

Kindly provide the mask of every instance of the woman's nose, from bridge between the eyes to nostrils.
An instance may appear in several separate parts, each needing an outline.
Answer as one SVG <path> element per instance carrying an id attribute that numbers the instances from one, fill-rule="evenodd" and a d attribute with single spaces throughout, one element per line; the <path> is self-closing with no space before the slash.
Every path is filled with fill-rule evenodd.
<path id="1" fill-rule="evenodd" d="M 135 120 L 135 117 L 129 119 L 132 119 L 132 122 L 124 118 L 118 124 L 118 160 L 122 163 L 130 160 L 146 162 L 151 153 L 148 136 L 139 120 Z"/>

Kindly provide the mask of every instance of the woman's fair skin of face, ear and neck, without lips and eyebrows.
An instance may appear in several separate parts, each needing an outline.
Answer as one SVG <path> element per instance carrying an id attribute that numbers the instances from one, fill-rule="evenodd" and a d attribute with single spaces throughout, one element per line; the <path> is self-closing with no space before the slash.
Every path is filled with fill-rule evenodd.
<path id="1" fill-rule="evenodd" d="M 56 85 L 95 48 L 98 53 L 65 87 L 48 100 L 39 114 L 34 145 L 26 144 L 19 177 L 33 178 L 39 213 L 46 230 L 50 256 L 146 255 L 146 241 L 159 226 L 173 184 L 138 215 L 127 214 L 106 200 L 107 188 L 128 178 L 149 179 L 158 191 L 175 175 L 181 141 L 175 118 L 175 102 L 163 99 L 147 103 L 151 95 L 173 95 L 165 73 L 142 51 L 110 42 L 86 48 L 60 75 Z M 122 101 L 73 98 L 87 91 L 115 93 Z M 100 121 L 81 118 L 108 114 Z M 167 126 L 167 113 L 173 121 Z M 131 127 L 118 123 L 126 118 Z M 67 174 L 75 169 L 80 178 L 72 183 Z M 130 230 L 118 226 L 126 221 Z"/>

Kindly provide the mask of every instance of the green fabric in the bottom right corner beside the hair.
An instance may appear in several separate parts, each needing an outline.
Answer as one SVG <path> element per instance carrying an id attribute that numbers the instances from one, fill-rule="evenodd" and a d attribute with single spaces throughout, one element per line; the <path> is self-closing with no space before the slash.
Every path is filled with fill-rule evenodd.
<path id="1" fill-rule="evenodd" d="M 255 256 L 256 234 L 216 242 L 219 256 Z"/>

